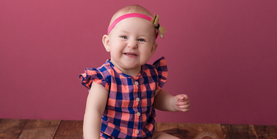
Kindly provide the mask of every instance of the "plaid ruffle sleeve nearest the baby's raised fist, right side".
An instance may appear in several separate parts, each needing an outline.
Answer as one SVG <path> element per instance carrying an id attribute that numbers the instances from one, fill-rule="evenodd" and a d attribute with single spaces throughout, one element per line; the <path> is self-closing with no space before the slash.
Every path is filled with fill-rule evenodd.
<path id="1" fill-rule="evenodd" d="M 156 60 L 153 65 L 155 66 L 158 74 L 157 89 L 161 89 L 165 85 L 167 79 L 166 59 L 161 57 L 160 59 Z"/>

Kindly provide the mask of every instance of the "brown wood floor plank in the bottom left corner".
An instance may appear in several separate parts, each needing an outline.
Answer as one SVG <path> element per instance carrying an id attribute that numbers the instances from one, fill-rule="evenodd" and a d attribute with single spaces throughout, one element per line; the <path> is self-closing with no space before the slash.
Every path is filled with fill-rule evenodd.
<path id="1" fill-rule="evenodd" d="M 29 120 L 0 119 L 0 138 L 19 138 Z"/>

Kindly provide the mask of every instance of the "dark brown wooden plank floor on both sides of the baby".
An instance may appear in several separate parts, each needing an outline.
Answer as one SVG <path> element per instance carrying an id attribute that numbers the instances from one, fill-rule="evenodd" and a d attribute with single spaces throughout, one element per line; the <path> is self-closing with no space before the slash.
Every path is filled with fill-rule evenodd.
<path id="1" fill-rule="evenodd" d="M 180 138 L 277 138 L 277 126 L 156 123 Z M 82 138 L 83 121 L 0 119 L 0 138 Z"/>

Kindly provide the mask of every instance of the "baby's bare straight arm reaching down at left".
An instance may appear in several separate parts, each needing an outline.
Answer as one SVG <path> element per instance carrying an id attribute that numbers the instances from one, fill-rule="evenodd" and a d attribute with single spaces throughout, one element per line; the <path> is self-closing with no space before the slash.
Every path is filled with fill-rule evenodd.
<path id="1" fill-rule="evenodd" d="M 92 83 L 87 98 L 84 117 L 84 138 L 100 138 L 101 117 L 105 110 L 109 91 L 102 85 Z"/>

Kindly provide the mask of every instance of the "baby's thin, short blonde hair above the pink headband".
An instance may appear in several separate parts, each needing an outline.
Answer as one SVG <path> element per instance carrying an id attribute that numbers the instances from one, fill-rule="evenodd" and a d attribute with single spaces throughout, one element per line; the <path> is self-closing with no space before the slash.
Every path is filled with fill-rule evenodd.
<path id="1" fill-rule="evenodd" d="M 139 6 L 139 5 L 130 5 L 130 6 L 126 6 L 120 10 L 118 10 L 111 18 L 111 21 L 110 21 L 110 24 L 109 24 L 109 27 L 111 26 L 112 22 L 124 15 L 124 14 L 128 14 L 128 13 L 140 13 L 140 14 L 144 14 L 144 15 L 147 15 L 147 16 L 150 16 L 150 17 L 153 17 L 152 14 L 147 10 L 145 9 L 144 7 L 142 6 Z"/>

